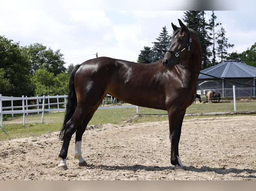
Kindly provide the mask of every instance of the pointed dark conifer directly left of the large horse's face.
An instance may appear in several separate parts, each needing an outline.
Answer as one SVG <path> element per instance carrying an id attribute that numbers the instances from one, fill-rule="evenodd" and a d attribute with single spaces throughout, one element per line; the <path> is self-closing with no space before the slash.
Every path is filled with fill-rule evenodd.
<path id="1" fill-rule="evenodd" d="M 163 27 L 162 32 L 160 32 L 160 35 L 156 40 L 157 42 L 152 42 L 154 44 L 152 62 L 162 59 L 171 44 L 171 36 L 168 35 L 166 26 Z"/>

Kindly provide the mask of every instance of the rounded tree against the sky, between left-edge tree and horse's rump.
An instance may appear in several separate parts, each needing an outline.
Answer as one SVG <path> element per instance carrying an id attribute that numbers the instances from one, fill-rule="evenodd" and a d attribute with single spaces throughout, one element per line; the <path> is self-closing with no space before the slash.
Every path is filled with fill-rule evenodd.
<path id="1" fill-rule="evenodd" d="M 36 70 L 44 69 L 51 72 L 56 76 L 66 71 L 63 54 L 60 50 L 55 52 L 46 46 L 39 43 L 23 47 L 23 51 L 28 55 L 28 59 L 31 63 L 31 73 L 35 74 Z"/>

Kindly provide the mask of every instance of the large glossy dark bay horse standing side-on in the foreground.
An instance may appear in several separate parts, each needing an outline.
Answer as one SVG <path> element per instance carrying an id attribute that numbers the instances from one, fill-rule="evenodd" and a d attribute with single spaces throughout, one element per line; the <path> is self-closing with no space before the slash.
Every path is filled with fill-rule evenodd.
<path id="1" fill-rule="evenodd" d="M 79 166 L 87 165 L 82 157 L 82 135 L 106 94 L 142 107 L 167 110 L 171 164 L 179 160 L 178 144 L 186 108 L 193 103 L 202 63 L 201 46 L 196 32 L 181 20 L 173 23 L 174 36 L 164 58 L 153 64 L 99 57 L 74 68 L 70 76 L 67 111 L 60 130 L 63 139 L 58 168 L 67 169 L 66 158 L 72 135 L 76 132 L 75 154 Z"/>

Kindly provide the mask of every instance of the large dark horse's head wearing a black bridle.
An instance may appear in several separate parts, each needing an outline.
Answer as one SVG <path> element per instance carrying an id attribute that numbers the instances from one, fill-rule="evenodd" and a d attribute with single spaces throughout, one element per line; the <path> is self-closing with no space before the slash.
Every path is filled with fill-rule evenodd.
<path id="1" fill-rule="evenodd" d="M 169 50 L 165 53 L 162 61 L 163 66 L 168 70 L 173 69 L 176 64 L 182 64 L 182 61 L 187 60 L 192 54 L 190 45 L 195 43 L 193 42 L 194 40 L 192 40 L 192 38 L 195 37 L 192 33 L 195 32 L 188 29 L 180 19 L 178 19 L 178 21 L 180 25 L 179 28 L 171 23 L 174 34 L 171 39 Z"/>

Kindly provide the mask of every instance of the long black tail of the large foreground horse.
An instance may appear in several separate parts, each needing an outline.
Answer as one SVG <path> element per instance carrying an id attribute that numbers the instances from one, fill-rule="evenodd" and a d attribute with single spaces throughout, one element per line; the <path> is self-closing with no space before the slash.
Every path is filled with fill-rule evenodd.
<path id="1" fill-rule="evenodd" d="M 66 131 L 66 124 L 74 114 L 76 107 L 77 107 L 77 94 L 75 90 L 75 85 L 74 85 L 74 79 L 75 79 L 75 74 L 77 70 L 79 69 L 81 65 L 77 65 L 73 71 L 70 74 L 70 81 L 69 81 L 69 95 L 68 95 L 68 103 L 67 103 L 67 109 L 66 109 L 66 114 L 64 117 L 64 122 L 62 125 L 62 128 L 59 133 L 59 138 L 63 140 L 63 136 Z"/>

